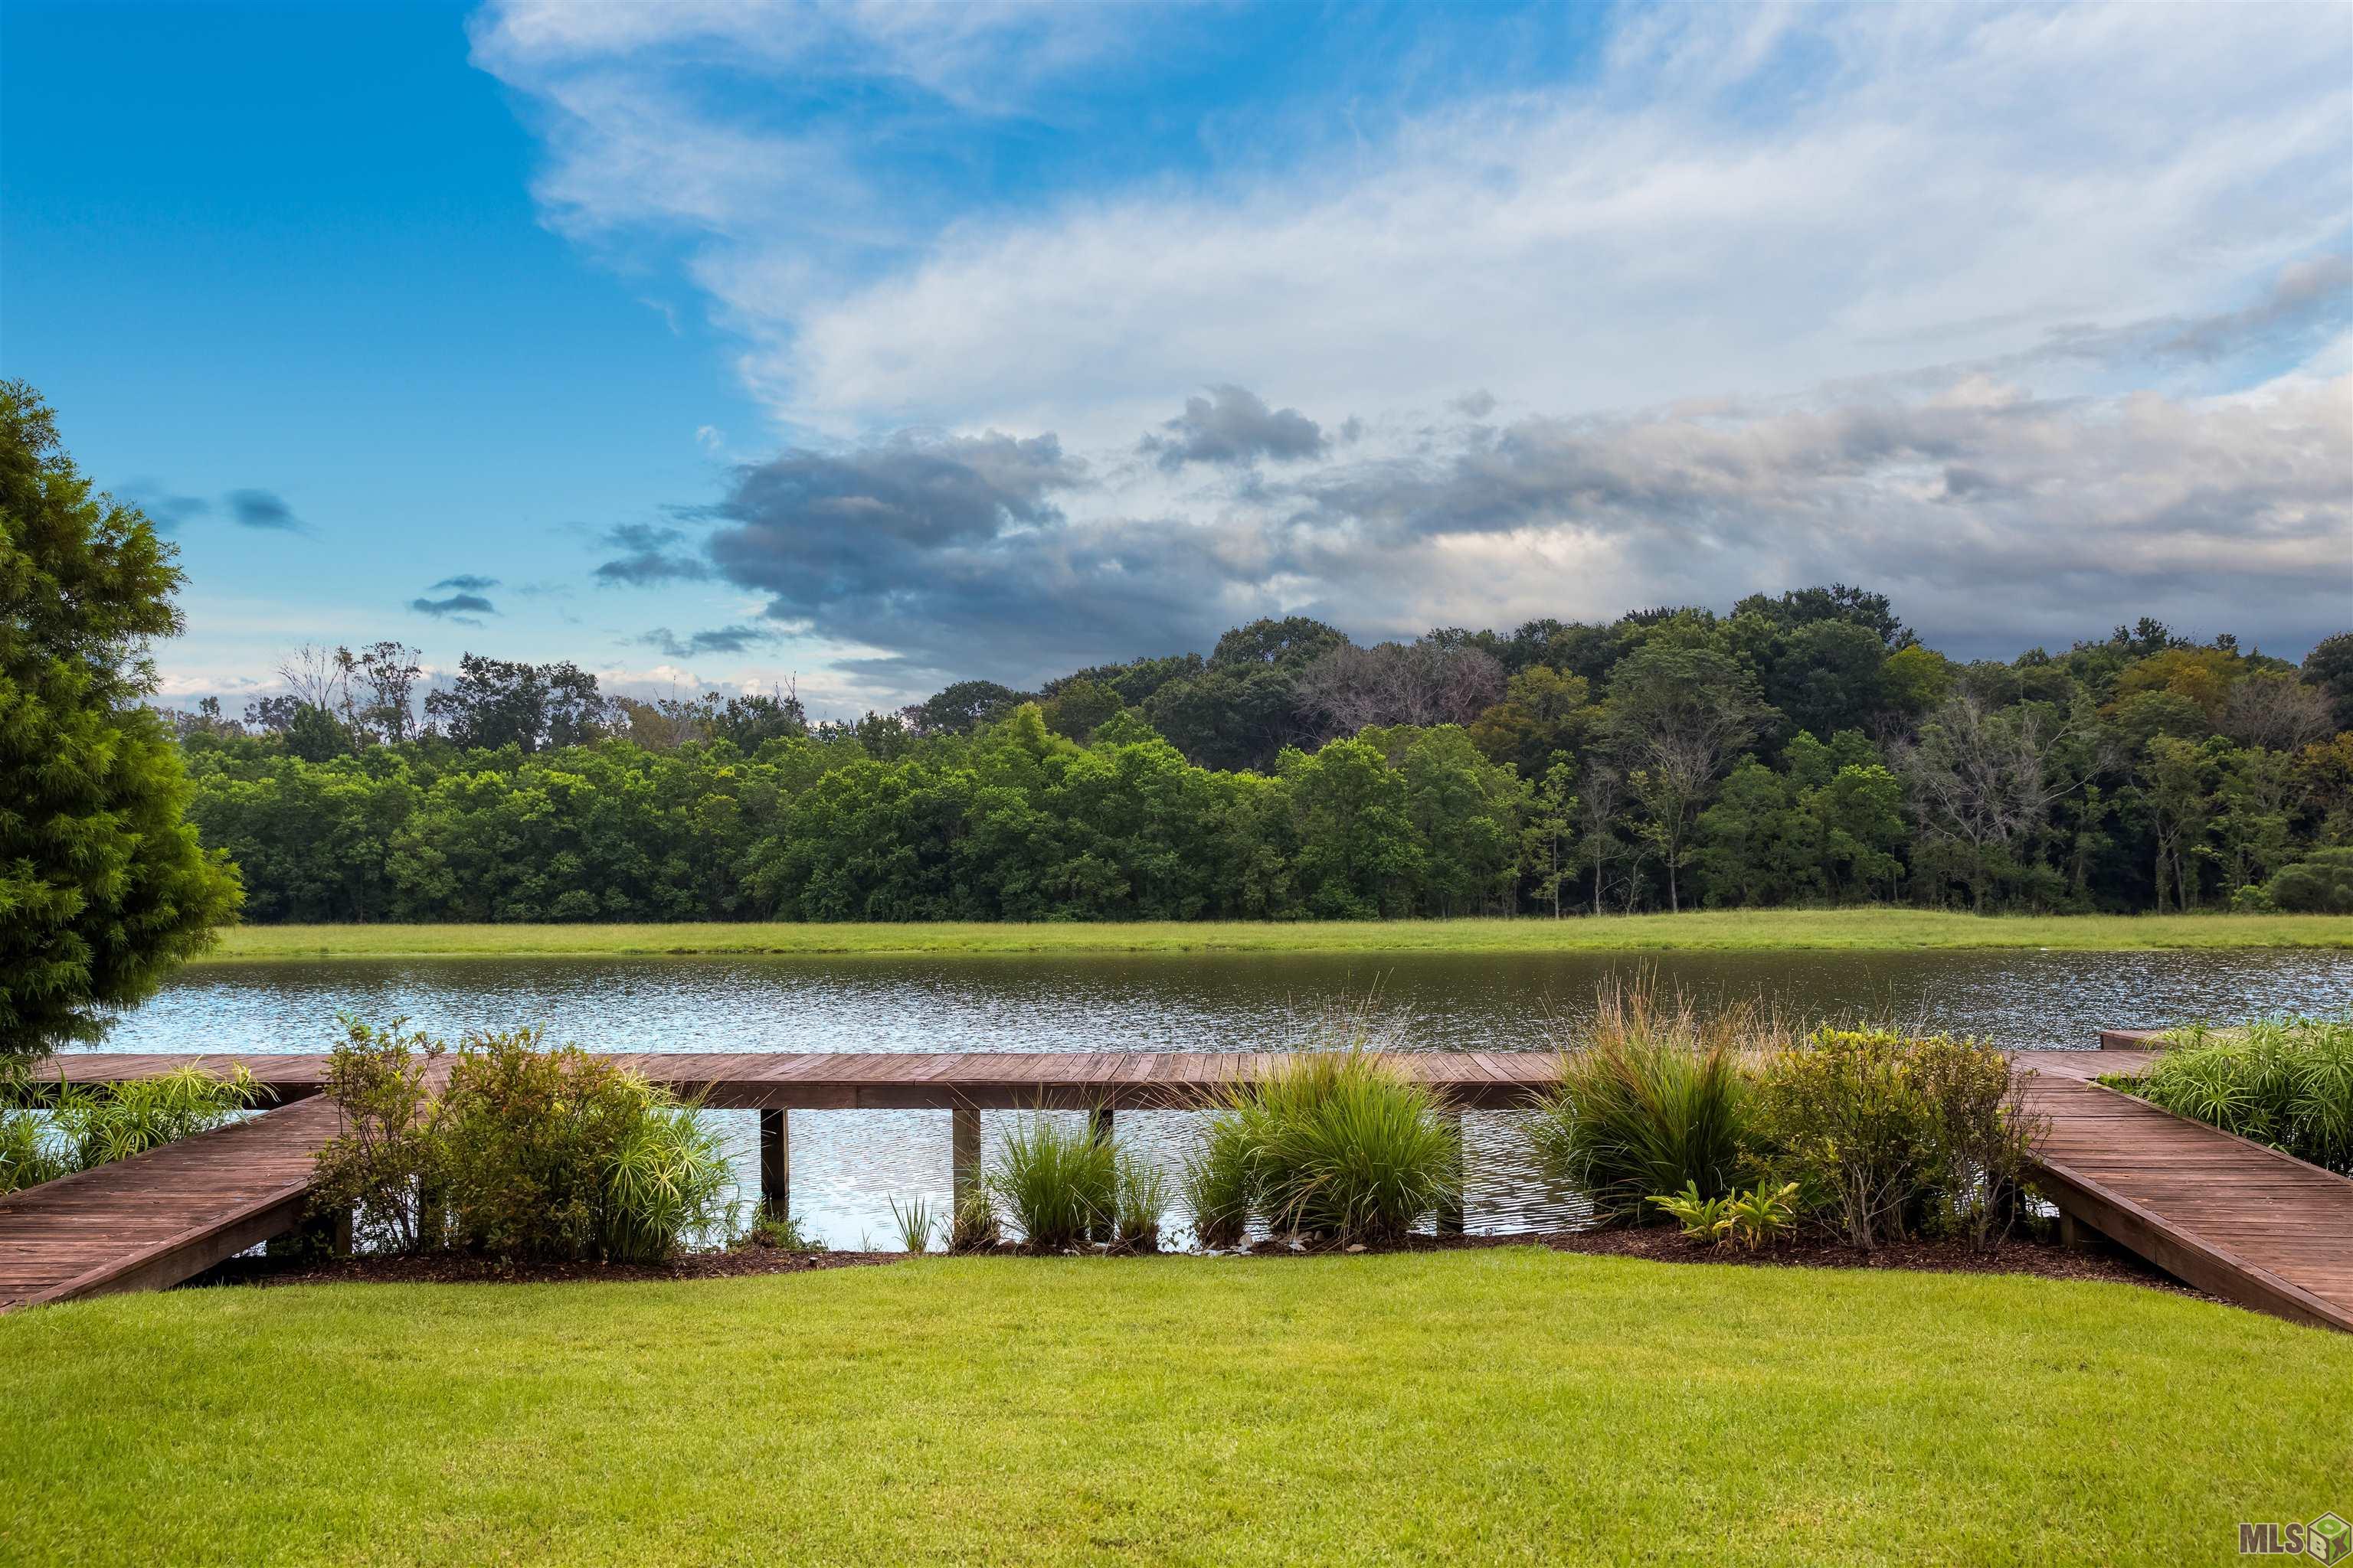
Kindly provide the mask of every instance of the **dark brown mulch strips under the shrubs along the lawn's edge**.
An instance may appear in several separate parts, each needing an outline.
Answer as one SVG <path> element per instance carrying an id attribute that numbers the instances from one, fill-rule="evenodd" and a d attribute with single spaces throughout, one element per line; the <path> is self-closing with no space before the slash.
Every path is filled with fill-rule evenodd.
<path id="1" fill-rule="evenodd" d="M 1647 1262 L 1692 1262 L 1722 1267 L 1762 1269 L 1920 1269 L 1929 1274 L 2033 1274 L 2038 1279 L 2097 1279 L 2108 1284 L 2148 1286 L 2193 1295 L 2198 1300 L 2221 1300 L 2193 1291 L 2172 1274 L 2165 1274 L 2132 1253 L 2111 1246 L 2071 1251 L 2047 1241 L 2009 1239 L 1993 1251 L 1979 1251 L 1953 1241 L 1906 1241 L 1861 1251 L 1838 1241 L 1805 1239 L 1772 1251 L 1748 1253 L 1741 1248 L 1711 1248 L 1685 1241 L 1666 1227 L 1649 1229 L 1581 1229 L 1518 1237 L 1409 1237 L 1398 1246 L 1358 1248 L 1374 1253 L 1445 1253 L 1475 1251 L 1487 1246 L 1548 1246 L 1555 1253 L 1586 1253 L 1595 1258 L 1642 1258 Z M 1016 1253 L 1016 1248 L 995 1248 Z M 1252 1248 L 1266 1258 L 1301 1258 L 1308 1251 L 1280 1241 L 1264 1241 Z M 235 1258 L 191 1284 L 256 1284 L 256 1286 L 327 1286 L 327 1284 L 576 1284 L 576 1281 L 673 1281 L 673 1279 L 744 1279 L 758 1274 L 807 1274 L 812 1269 L 854 1269 L 882 1262 L 906 1262 L 906 1253 L 786 1253 L 767 1246 L 746 1246 L 729 1253 L 685 1253 L 666 1265 L 640 1262 L 513 1262 L 492 1258 L 428 1255 L 428 1258 Z"/>

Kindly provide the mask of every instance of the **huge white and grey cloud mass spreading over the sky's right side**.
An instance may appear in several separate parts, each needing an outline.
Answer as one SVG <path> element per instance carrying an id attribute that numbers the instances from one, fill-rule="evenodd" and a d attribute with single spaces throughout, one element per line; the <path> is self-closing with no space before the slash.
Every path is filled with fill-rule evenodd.
<path id="1" fill-rule="evenodd" d="M 1287 127 L 1280 165 L 998 202 L 873 162 L 1118 47 L 1071 7 L 485 14 L 548 221 L 685 256 L 795 433 L 708 534 L 614 531 L 602 583 L 753 590 L 911 686 L 1254 614 L 1409 635 L 1831 578 L 1977 654 L 2344 623 L 2325 7 L 1624 9 L 1572 82 Z M 824 113 L 845 85 L 887 134 Z"/>

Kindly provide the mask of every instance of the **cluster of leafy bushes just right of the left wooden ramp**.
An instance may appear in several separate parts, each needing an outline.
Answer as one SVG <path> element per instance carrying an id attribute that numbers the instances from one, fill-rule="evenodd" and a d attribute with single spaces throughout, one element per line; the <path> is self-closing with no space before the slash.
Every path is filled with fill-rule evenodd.
<path id="1" fill-rule="evenodd" d="M 320 1208 L 388 1251 L 659 1260 L 732 1229 L 732 1171 L 694 1107 L 539 1030 L 468 1037 L 433 1091 L 440 1041 L 346 1018 L 327 1070 L 341 1112 Z"/>

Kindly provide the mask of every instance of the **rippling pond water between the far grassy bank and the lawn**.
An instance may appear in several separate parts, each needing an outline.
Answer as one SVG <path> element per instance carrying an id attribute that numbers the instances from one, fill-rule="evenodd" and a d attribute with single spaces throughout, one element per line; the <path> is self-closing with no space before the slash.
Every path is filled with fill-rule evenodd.
<path id="1" fill-rule="evenodd" d="M 407 1016 L 447 1034 L 541 1023 L 607 1051 L 1252 1051 L 1369 1006 L 1398 1048 L 1544 1051 L 1593 992 L 1649 973 L 1704 999 L 1793 1018 L 1885 1020 L 2002 1046 L 2092 1046 L 2101 1027 L 2344 1013 L 2353 952 L 1781 952 L 1134 954 L 951 959 L 306 959 L 184 971 L 127 1016 L 113 1051 L 322 1051 L 334 1016 Z M 1012 1112 L 984 1117 L 993 1147 Z M 711 1112 L 753 1180 L 753 1112 Z M 1167 1161 L 1191 1117 L 1122 1112 L 1118 1135 Z M 1471 1229 L 1553 1229 L 1511 1119 L 1468 1117 Z M 889 1201 L 948 1194 L 946 1112 L 800 1112 L 793 1208 L 831 1246 L 892 1246 Z"/>

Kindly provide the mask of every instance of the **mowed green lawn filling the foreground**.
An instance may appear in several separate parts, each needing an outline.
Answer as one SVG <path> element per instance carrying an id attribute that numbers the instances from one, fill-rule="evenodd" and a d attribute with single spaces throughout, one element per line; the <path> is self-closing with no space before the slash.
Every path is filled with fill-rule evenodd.
<path id="1" fill-rule="evenodd" d="M 2353 1338 L 1537 1248 L 181 1291 L 0 1319 L 40 1563 L 2228 1561 Z"/>

